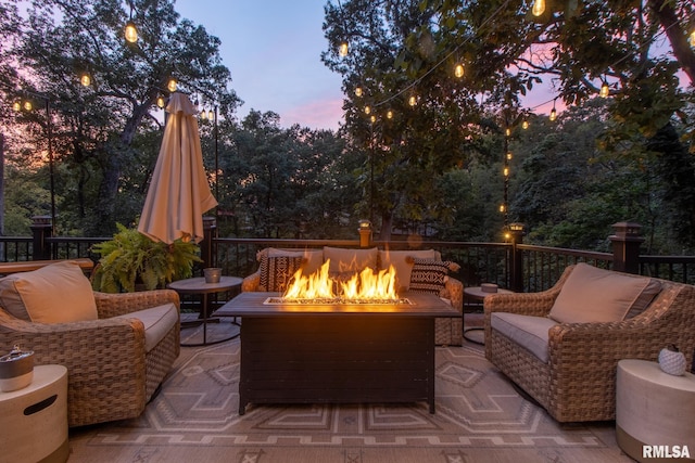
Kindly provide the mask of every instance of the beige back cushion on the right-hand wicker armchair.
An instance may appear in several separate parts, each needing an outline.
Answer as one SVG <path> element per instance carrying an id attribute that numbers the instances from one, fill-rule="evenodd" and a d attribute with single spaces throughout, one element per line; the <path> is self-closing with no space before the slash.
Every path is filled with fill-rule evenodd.
<path id="1" fill-rule="evenodd" d="M 549 312 L 559 323 L 614 322 L 643 311 L 661 290 L 658 281 L 578 263 Z"/>

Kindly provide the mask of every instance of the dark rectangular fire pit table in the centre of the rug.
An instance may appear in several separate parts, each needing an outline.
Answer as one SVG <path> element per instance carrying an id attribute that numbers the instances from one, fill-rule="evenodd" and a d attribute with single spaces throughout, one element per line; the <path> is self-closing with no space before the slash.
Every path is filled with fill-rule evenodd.
<path id="1" fill-rule="evenodd" d="M 239 414 L 252 402 L 419 400 L 434 413 L 434 318 L 460 317 L 424 293 L 397 304 L 296 304 L 241 293 L 214 314 L 242 319 Z"/>

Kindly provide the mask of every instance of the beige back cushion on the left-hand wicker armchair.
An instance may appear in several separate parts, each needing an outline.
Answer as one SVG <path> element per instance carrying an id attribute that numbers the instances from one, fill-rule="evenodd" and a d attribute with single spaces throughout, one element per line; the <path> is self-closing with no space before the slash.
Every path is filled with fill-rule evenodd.
<path id="1" fill-rule="evenodd" d="M 98 318 L 91 284 L 71 260 L 1 279 L 0 305 L 18 319 L 38 323 Z"/>

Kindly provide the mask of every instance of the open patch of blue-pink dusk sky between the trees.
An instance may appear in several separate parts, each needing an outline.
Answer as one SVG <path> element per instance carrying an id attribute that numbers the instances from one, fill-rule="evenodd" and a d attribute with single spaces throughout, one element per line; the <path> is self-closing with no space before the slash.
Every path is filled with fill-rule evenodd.
<path id="1" fill-rule="evenodd" d="M 176 0 L 176 11 L 222 40 L 231 88 L 244 101 L 237 115 L 273 111 L 280 125 L 338 129 L 341 76 L 321 63 L 327 0 Z"/>

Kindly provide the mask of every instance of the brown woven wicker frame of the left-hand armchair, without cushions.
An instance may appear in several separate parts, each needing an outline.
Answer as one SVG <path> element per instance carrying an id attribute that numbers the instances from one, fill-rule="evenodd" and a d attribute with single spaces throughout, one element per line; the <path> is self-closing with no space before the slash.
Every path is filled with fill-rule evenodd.
<path id="1" fill-rule="evenodd" d="M 70 426 L 140 415 L 179 355 L 177 322 L 149 352 L 144 325 L 116 318 L 161 306 L 179 306 L 170 290 L 127 294 L 94 293 L 98 320 L 33 323 L 0 308 L 0 351 L 13 345 L 34 350 L 35 364 L 65 365 Z"/>

